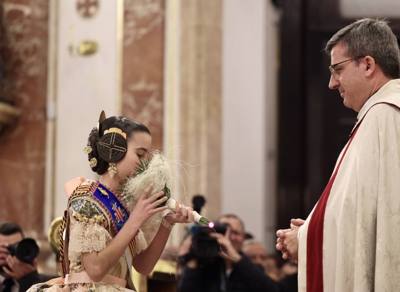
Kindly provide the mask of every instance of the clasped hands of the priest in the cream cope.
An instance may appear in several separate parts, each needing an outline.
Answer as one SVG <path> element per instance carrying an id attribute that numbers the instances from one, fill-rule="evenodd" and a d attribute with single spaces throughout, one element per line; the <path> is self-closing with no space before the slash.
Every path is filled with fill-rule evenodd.
<path id="1" fill-rule="evenodd" d="M 282 258 L 291 258 L 298 263 L 298 232 L 300 226 L 304 224 L 303 219 L 290 220 L 289 229 L 279 229 L 276 231 L 276 249 L 282 251 Z"/>

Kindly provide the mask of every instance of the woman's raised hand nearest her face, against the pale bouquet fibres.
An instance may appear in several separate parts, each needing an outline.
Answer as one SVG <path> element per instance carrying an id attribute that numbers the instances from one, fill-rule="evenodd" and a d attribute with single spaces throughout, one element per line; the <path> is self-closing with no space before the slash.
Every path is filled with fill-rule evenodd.
<path id="1" fill-rule="evenodd" d="M 142 226 L 150 217 L 152 217 L 154 214 L 158 212 L 162 212 L 166 209 L 168 209 L 168 206 L 164 207 L 159 207 L 156 208 L 158 205 L 161 203 L 165 202 L 168 200 L 167 196 L 162 197 L 160 200 L 157 200 L 157 198 L 161 197 L 164 195 L 164 192 L 158 192 L 154 195 L 152 195 L 150 198 L 147 199 L 148 194 L 153 188 L 153 184 L 149 185 L 140 195 L 138 199 L 138 203 L 136 203 L 136 206 L 132 210 L 132 212 L 129 215 L 129 222 L 140 222 L 140 226 Z"/>

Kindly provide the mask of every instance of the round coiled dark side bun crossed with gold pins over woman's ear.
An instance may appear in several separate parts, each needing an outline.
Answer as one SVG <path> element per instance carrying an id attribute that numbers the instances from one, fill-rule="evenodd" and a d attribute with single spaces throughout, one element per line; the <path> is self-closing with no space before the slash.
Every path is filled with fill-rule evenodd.
<path id="1" fill-rule="evenodd" d="M 115 132 L 103 135 L 97 143 L 97 152 L 107 162 L 120 161 L 126 155 L 128 144 L 126 139 Z"/>

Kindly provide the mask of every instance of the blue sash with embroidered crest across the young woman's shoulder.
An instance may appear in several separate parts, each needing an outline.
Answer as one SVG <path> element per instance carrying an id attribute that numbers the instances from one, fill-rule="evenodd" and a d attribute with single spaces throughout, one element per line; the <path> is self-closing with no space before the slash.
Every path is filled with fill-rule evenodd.
<path id="1" fill-rule="evenodd" d="M 111 224 L 116 233 L 118 233 L 122 226 L 124 226 L 126 220 L 128 220 L 129 212 L 124 205 L 121 204 L 118 197 L 107 189 L 106 186 L 98 182 L 95 183 L 93 187 L 95 187 L 95 189 L 93 193 L 90 192 L 90 195 L 107 211 L 108 216 L 112 219 Z"/>

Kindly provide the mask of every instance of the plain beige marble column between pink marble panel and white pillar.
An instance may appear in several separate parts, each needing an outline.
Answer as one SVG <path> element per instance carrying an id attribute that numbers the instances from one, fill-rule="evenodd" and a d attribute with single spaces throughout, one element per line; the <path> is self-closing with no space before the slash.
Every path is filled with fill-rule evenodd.
<path id="1" fill-rule="evenodd" d="M 184 0 L 180 7 L 180 159 L 188 204 L 206 198 L 202 215 L 220 215 L 222 1 Z"/>

